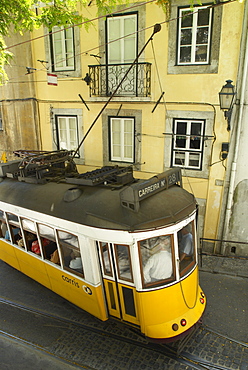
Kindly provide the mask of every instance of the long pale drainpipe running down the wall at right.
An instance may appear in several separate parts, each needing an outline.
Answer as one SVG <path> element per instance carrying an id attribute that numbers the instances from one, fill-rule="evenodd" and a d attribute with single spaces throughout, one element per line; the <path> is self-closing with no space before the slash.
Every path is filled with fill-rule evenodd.
<path id="1" fill-rule="evenodd" d="M 231 172 L 230 172 L 230 181 L 229 181 L 229 189 L 227 195 L 227 202 L 226 202 L 226 212 L 224 216 L 224 225 L 222 231 L 222 240 L 226 239 L 228 225 L 231 218 L 231 209 L 232 209 L 232 202 L 233 202 L 233 194 L 235 190 L 235 179 L 236 179 L 236 171 L 237 171 L 237 160 L 238 160 L 238 153 L 239 153 L 239 142 L 240 142 L 240 135 L 241 135 L 241 128 L 242 128 L 242 121 L 243 121 L 243 110 L 244 110 L 244 101 L 245 101 L 245 89 L 246 89 L 246 80 L 247 80 L 247 70 L 248 70 L 248 32 L 247 32 L 247 13 L 248 13 L 248 2 L 245 3 L 245 12 L 244 12 L 244 22 L 243 22 L 243 31 L 242 34 L 244 35 L 244 41 L 241 45 L 242 49 L 241 52 L 245 52 L 244 56 L 244 63 L 243 66 L 240 63 L 240 70 L 239 70 L 239 79 L 241 79 L 241 93 L 240 93 L 240 107 L 238 112 L 238 119 L 237 119 L 237 131 L 235 136 L 235 144 L 234 148 L 234 155 L 233 161 L 231 165 Z M 221 244 L 221 254 L 225 253 L 225 244 Z"/>

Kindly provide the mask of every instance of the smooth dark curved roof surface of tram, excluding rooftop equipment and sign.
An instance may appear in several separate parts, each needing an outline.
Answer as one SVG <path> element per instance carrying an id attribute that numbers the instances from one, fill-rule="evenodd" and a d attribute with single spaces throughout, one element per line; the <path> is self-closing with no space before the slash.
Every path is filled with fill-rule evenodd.
<path id="1" fill-rule="evenodd" d="M 80 195 L 75 200 L 65 201 L 71 189 L 79 189 Z M 196 207 L 192 194 L 173 185 L 142 200 L 135 212 L 121 205 L 122 190 L 99 186 L 72 188 L 71 184 L 54 182 L 38 185 L 4 178 L 0 182 L 0 200 L 91 227 L 127 231 L 175 224 Z"/>

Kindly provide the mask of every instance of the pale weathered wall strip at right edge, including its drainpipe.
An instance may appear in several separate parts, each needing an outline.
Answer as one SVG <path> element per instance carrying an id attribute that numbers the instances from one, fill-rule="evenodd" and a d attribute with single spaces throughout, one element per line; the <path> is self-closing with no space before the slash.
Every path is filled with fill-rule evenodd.
<path id="1" fill-rule="evenodd" d="M 247 101 L 248 101 L 248 4 L 245 4 L 240 44 L 237 95 L 231 118 L 232 137 L 222 201 L 219 227 L 221 251 L 225 254 L 248 255 L 247 240 Z"/>

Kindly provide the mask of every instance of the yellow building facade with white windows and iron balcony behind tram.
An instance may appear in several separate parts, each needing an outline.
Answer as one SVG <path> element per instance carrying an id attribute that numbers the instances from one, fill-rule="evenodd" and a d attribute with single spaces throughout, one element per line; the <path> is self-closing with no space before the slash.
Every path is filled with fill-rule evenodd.
<path id="1" fill-rule="evenodd" d="M 228 162 L 222 143 L 232 135 L 218 93 L 227 79 L 237 79 L 243 16 L 238 1 L 202 1 L 192 9 L 188 0 L 172 0 L 169 16 L 155 2 L 136 2 L 104 17 L 96 16 L 92 3 L 88 30 L 82 25 L 33 32 L 30 43 L 13 50 L 29 47 L 32 54 L 32 65 L 23 68 L 33 69 L 20 73 L 36 110 L 21 118 L 27 135 L 27 115 L 34 115 L 37 136 L 33 147 L 25 142 L 21 149 L 80 147 L 79 171 L 132 165 L 140 178 L 180 167 L 184 188 L 199 204 L 199 236 L 218 239 Z M 161 30 L 153 35 L 155 24 Z M 8 89 L 0 88 L 0 135 L 9 117 L 3 109 Z M 3 143 L 0 149 L 9 151 Z"/>

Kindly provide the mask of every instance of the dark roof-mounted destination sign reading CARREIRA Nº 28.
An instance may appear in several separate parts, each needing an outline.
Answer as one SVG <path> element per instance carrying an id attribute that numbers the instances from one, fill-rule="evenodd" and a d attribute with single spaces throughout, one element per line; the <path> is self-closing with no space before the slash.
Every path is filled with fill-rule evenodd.
<path id="1" fill-rule="evenodd" d="M 148 180 L 130 185 L 121 192 L 121 203 L 124 207 L 138 210 L 139 202 L 143 199 L 159 191 L 168 189 L 172 185 L 178 184 L 182 186 L 181 183 L 181 170 L 179 168 L 174 168 L 151 177 Z"/>

